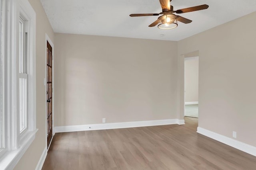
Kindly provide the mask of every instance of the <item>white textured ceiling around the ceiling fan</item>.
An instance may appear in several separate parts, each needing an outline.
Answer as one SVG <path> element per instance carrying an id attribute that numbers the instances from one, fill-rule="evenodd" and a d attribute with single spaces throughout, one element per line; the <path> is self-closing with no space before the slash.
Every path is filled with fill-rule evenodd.
<path id="1" fill-rule="evenodd" d="M 148 27 L 160 13 L 158 0 L 41 0 L 54 32 L 178 41 L 256 11 L 256 0 L 172 0 L 174 10 L 202 4 L 206 10 L 178 14 L 192 20 L 175 29 Z M 242 24 L 242 23 L 241 23 Z"/>

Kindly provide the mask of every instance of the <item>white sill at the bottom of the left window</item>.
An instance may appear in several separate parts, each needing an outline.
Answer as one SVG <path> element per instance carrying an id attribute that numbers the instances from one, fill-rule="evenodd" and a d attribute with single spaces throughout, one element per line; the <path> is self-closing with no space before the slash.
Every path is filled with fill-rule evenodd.
<path id="1" fill-rule="evenodd" d="M 24 135 L 24 140 L 20 144 L 20 147 L 15 150 L 7 150 L 0 158 L 0 167 L 1 170 L 12 170 L 16 164 L 19 162 L 20 158 L 26 152 L 28 147 L 34 141 L 36 137 L 36 132 L 38 129 L 34 131 L 28 131 L 26 135 Z"/>

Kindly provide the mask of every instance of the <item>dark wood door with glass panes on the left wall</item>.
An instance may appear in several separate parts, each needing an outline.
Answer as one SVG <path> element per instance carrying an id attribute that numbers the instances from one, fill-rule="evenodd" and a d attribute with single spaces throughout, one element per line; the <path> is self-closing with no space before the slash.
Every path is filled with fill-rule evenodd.
<path id="1" fill-rule="evenodd" d="M 47 105 L 47 147 L 52 139 L 52 47 L 47 41 L 47 82 L 46 82 L 46 105 Z"/>

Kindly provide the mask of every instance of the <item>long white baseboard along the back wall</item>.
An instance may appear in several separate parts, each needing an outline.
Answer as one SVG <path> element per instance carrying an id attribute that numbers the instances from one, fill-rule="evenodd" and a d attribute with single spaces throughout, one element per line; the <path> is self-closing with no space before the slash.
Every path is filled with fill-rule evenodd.
<path id="1" fill-rule="evenodd" d="M 163 120 L 152 120 L 152 121 L 100 123 L 100 124 L 92 124 L 92 125 L 57 126 L 57 127 L 54 127 L 54 131 L 55 133 L 60 133 L 60 132 L 91 131 L 91 130 L 103 130 L 103 129 L 120 129 L 120 128 L 129 128 L 129 127 L 172 125 L 172 124 L 182 125 L 184 124 L 184 120 L 163 119 Z"/>

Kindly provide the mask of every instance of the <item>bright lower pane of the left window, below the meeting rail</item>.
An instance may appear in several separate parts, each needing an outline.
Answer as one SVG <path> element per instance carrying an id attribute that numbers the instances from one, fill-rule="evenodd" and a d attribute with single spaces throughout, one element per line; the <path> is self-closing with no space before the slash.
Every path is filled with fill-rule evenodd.
<path id="1" fill-rule="evenodd" d="M 20 133 L 27 128 L 27 79 L 20 78 Z"/>

